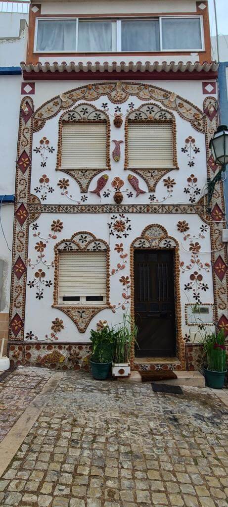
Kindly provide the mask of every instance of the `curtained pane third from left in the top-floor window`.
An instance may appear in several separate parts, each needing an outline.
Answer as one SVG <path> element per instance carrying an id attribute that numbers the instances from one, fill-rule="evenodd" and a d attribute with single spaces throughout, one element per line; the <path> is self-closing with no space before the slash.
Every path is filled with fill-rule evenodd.
<path id="1" fill-rule="evenodd" d="M 122 51 L 159 51 L 159 21 L 122 21 Z"/>

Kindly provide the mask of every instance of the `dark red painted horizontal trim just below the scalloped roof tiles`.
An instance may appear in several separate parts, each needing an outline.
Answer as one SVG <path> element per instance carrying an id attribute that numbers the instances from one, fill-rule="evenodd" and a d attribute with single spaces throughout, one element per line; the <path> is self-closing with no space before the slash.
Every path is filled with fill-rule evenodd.
<path id="1" fill-rule="evenodd" d="M 218 73 L 217 72 L 149 72 L 148 70 L 145 72 L 128 70 L 128 72 L 108 72 L 107 70 L 104 72 L 92 72 L 89 70 L 88 72 L 83 72 L 80 70 L 79 72 L 67 72 L 64 70 L 63 72 L 51 72 L 48 71 L 46 73 L 41 72 L 23 72 L 24 81 L 96 81 L 96 80 L 104 80 L 104 81 L 125 81 L 125 80 L 150 80 L 150 81 L 202 81 L 209 79 L 216 79 Z"/>

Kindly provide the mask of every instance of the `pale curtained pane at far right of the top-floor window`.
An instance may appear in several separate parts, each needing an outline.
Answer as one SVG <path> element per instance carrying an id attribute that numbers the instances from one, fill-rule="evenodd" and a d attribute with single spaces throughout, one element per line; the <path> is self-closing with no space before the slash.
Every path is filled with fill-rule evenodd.
<path id="1" fill-rule="evenodd" d="M 163 49 L 201 49 L 199 18 L 162 19 Z"/>

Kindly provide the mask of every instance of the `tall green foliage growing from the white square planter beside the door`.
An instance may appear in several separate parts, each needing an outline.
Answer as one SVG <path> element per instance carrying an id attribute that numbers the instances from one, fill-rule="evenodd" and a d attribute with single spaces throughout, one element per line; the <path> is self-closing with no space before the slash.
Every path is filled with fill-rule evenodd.
<path id="1" fill-rule="evenodd" d="M 129 315 L 123 314 L 123 323 L 116 325 L 117 334 L 113 347 L 113 362 L 128 363 L 132 342 L 136 341 L 138 328 Z"/>

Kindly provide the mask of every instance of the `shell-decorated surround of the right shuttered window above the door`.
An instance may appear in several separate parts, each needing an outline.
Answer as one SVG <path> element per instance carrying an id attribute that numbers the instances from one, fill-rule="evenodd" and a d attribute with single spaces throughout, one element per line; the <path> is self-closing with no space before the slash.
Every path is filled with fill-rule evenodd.
<path id="1" fill-rule="evenodd" d="M 132 168 L 129 167 L 129 124 L 171 124 L 172 125 L 172 144 L 173 144 L 173 167 L 164 168 Z M 147 102 L 140 105 L 137 109 L 130 111 L 125 122 L 125 169 L 135 172 L 144 179 L 149 192 L 155 192 L 159 180 L 173 169 L 179 169 L 177 164 L 176 150 L 176 121 L 175 117 L 169 111 L 159 107 L 153 102 Z"/>

